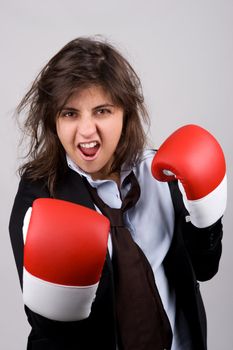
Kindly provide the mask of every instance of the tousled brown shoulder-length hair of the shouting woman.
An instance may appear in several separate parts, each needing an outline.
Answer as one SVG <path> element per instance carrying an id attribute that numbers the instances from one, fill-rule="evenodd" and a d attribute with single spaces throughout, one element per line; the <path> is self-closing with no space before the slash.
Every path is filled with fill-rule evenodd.
<path id="1" fill-rule="evenodd" d="M 145 146 L 144 126 L 149 124 L 149 118 L 134 69 L 106 40 L 74 39 L 41 70 L 17 108 L 18 114 L 26 112 L 23 130 L 30 138 L 27 161 L 19 173 L 31 180 L 46 179 L 51 193 L 59 174 L 67 169 L 65 151 L 56 132 L 57 115 L 74 92 L 91 85 L 104 88 L 124 111 L 111 173 L 120 171 L 123 163 L 134 165 Z"/>

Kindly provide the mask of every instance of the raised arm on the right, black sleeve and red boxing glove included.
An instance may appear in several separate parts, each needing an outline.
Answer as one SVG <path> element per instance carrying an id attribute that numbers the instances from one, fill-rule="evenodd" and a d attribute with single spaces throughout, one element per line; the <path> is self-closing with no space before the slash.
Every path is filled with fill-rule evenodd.
<path id="1" fill-rule="evenodd" d="M 227 198 L 226 165 L 220 145 L 201 127 L 182 127 L 159 148 L 152 174 L 170 184 L 176 220 L 197 279 L 211 278 L 221 256 L 221 218 Z"/>

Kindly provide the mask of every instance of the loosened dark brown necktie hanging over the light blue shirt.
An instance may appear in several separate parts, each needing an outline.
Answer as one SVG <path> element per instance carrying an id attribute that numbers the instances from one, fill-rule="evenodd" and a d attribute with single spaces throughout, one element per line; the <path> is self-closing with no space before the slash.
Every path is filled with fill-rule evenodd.
<path id="1" fill-rule="evenodd" d="M 127 181 L 131 183 L 131 188 L 120 209 L 106 205 L 97 190 L 86 181 L 93 202 L 111 222 L 119 348 L 168 350 L 171 348 L 172 331 L 153 271 L 124 225 L 123 213 L 132 208 L 140 197 L 140 187 L 133 172 L 124 180 L 125 183 Z"/>

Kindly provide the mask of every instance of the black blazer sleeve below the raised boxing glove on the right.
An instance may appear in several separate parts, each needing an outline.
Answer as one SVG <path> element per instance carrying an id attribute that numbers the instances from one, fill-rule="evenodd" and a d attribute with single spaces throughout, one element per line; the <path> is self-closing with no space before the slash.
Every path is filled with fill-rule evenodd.
<path id="1" fill-rule="evenodd" d="M 169 187 L 176 221 L 179 222 L 184 245 L 196 279 L 199 281 L 209 280 L 217 273 L 222 254 L 222 218 L 209 227 L 201 229 L 195 227 L 191 222 L 187 222 L 189 213 L 183 204 L 177 182 L 171 182 Z"/>

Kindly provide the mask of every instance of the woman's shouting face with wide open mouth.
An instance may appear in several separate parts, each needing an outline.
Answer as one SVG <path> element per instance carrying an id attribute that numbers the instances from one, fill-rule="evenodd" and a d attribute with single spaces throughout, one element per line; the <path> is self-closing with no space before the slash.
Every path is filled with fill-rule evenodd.
<path id="1" fill-rule="evenodd" d="M 101 86 L 91 86 L 74 93 L 57 117 L 57 135 L 66 153 L 93 179 L 109 175 L 123 113 Z"/>

